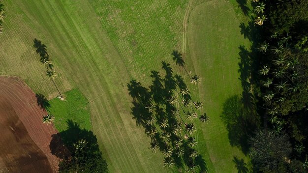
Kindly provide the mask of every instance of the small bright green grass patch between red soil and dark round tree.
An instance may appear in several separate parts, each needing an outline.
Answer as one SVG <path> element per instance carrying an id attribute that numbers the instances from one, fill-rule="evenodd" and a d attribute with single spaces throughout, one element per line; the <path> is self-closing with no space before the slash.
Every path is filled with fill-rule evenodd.
<path id="1" fill-rule="evenodd" d="M 89 102 L 79 89 L 74 88 L 63 93 L 65 100 L 54 98 L 49 101 L 50 113 L 55 116 L 55 126 L 59 132 L 67 129 L 66 121 L 71 119 L 80 125 L 81 129 L 92 130 Z"/>

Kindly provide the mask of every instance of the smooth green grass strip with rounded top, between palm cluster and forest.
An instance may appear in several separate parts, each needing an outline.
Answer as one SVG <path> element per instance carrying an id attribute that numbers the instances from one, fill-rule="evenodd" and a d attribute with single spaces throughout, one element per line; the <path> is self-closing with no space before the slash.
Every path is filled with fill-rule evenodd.
<path id="1" fill-rule="evenodd" d="M 238 47 L 249 47 L 249 42 L 240 34 L 239 26 L 232 5 L 223 0 L 196 6 L 189 18 L 190 58 L 196 72 L 202 76 L 200 97 L 211 117 L 203 134 L 216 173 L 237 173 L 233 156 L 247 161 L 239 148 L 229 144 L 228 131 L 220 118 L 225 100 L 242 93 L 238 79 Z"/>

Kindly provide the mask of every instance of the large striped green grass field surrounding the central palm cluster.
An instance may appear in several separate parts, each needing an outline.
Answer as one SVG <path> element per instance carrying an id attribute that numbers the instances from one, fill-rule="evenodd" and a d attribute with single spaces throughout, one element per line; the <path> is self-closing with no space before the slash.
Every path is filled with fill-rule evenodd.
<path id="1" fill-rule="evenodd" d="M 110 172 L 163 173 L 162 155 L 152 154 L 150 139 L 131 118 L 126 84 L 131 78 L 149 84 L 150 71 L 160 69 L 161 60 L 174 64 L 171 52 L 186 48 L 187 68 L 202 76 L 202 85 L 191 89 L 212 118 L 208 125 L 196 122 L 198 149 L 211 173 L 236 172 L 232 157 L 243 154 L 230 146 L 219 114 L 229 95 L 241 93 L 238 46 L 248 43 L 229 2 L 205 1 L 6 0 L 0 75 L 20 76 L 34 92 L 54 98 L 57 90 L 32 48 L 34 38 L 41 40 L 59 72 L 60 90 L 78 88 L 86 97 L 77 105 L 87 102 L 87 109 L 77 107 L 90 111 Z"/>

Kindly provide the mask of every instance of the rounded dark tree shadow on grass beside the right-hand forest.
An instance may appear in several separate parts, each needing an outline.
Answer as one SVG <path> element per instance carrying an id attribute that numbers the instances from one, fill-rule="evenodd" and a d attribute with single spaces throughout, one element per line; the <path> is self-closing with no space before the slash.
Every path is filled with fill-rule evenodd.
<path id="1" fill-rule="evenodd" d="M 240 147 L 247 154 L 248 140 L 259 126 L 255 112 L 247 109 L 238 95 L 233 95 L 224 102 L 220 117 L 227 127 L 230 144 Z"/>

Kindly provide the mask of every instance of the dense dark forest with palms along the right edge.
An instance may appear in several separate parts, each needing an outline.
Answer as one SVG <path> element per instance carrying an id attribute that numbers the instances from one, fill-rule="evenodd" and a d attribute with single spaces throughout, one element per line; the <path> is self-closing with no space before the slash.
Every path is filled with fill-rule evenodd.
<path id="1" fill-rule="evenodd" d="M 253 0 L 252 6 L 250 92 L 263 119 L 250 140 L 253 171 L 307 173 L 308 0 Z"/>

